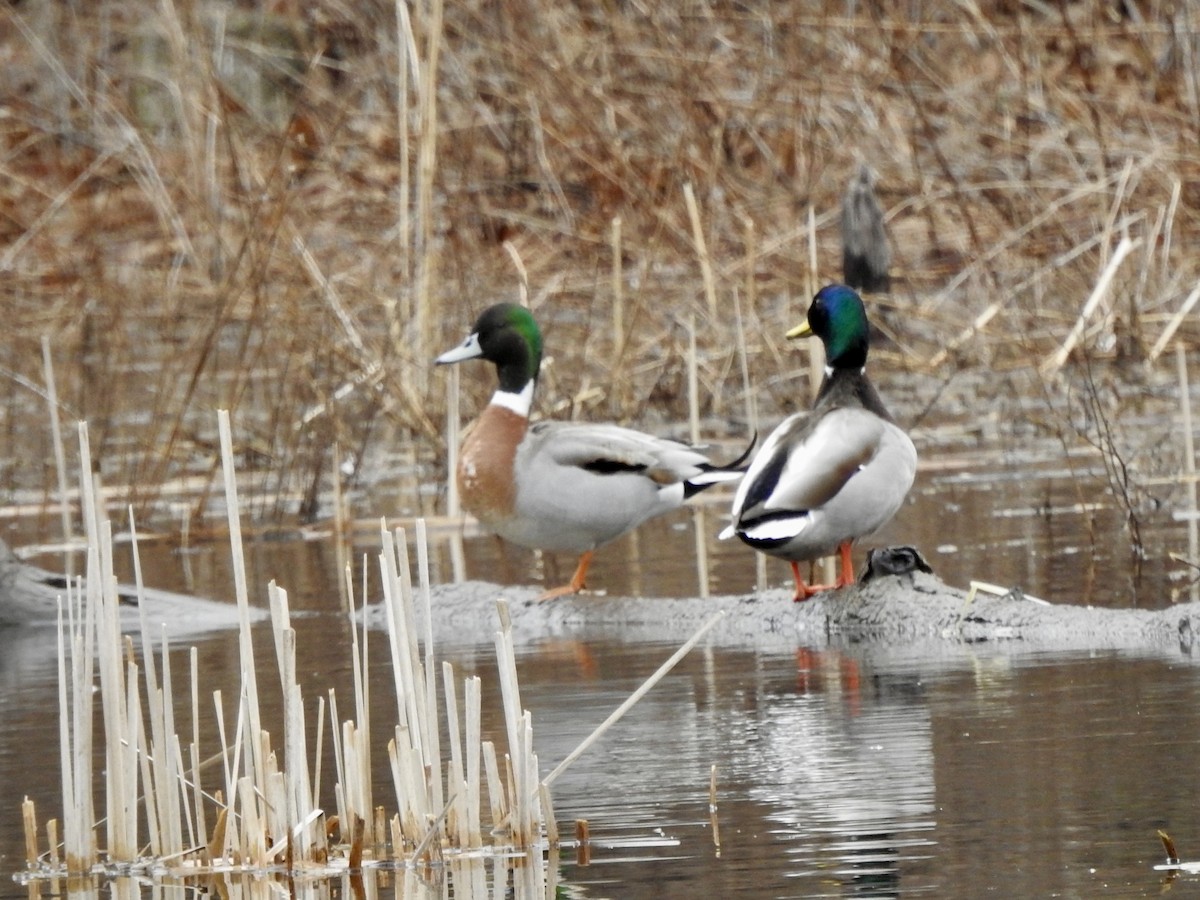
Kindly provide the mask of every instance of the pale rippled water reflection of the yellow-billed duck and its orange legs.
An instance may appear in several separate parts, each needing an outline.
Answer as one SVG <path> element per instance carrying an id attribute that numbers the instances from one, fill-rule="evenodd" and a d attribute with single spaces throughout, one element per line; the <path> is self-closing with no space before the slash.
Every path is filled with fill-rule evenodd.
<path id="1" fill-rule="evenodd" d="M 769 780 L 751 797 L 792 841 L 797 874 L 832 875 L 847 895 L 899 896 L 902 864 L 934 841 L 929 707 L 916 676 L 877 673 L 838 650 L 797 653 L 799 690 L 762 716 Z M 864 691 L 870 694 L 864 697 Z"/>

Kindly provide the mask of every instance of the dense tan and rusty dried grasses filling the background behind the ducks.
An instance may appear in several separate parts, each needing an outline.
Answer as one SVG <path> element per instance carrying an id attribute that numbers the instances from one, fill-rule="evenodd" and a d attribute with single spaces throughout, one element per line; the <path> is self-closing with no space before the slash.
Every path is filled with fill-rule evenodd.
<path id="1" fill-rule="evenodd" d="M 1164 335 L 1200 336 L 1182 0 L 437 4 L 0 7 L 10 502 L 54 490 L 43 348 L 139 509 L 204 484 L 217 407 L 264 515 L 328 512 L 335 466 L 434 485 L 430 361 L 521 296 L 544 413 L 685 420 L 695 322 L 703 431 L 740 437 L 743 352 L 764 422 L 808 402 L 782 334 L 840 278 L 862 163 L 893 252 L 872 371 L 906 424 L 1099 444 L 1170 394 Z M 492 378 L 462 376 L 470 413 Z"/>

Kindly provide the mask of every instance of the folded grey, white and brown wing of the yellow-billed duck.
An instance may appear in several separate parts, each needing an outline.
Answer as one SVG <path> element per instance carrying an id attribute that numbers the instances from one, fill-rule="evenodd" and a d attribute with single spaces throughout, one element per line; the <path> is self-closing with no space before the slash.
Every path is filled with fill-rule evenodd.
<path id="1" fill-rule="evenodd" d="M 829 503 L 878 454 L 887 422 L 860 408 L 798 413 L 763 444 L 734 498 L 734 517 Z"/>

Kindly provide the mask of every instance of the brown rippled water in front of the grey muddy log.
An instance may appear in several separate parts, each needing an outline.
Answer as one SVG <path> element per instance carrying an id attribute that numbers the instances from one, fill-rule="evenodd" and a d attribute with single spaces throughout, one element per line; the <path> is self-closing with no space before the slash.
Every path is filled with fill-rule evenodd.
<path id="1" fill-rule="evenodd" d="M 340 634 L 331 619 L 296 625 L 313 680 L 336 680 L 330 674 L 344 652 L 330 640 Z M 198 649 L 205 683 L 235 690 L 224 642 L 206 640 Z M 534 716 L 544 772 L 672 649 L 619 640 L 524 643 L 522 702 Z M 494 667 L 487 646 L 448 646 L 442 656 L 463 674 Z M 58 767 L 42 762 L 56 760 L 54 716 L 47 715 L 56 688 L 36 653 L 5 656 L 0 666 L 7 659 L 36 672 L 22 679 L 18 666 L 0 667 L 7 774 L 0 865 L 14 871 L 23 859 L 20 796 L 37 798 L 42 818 L 59 808 Z M 377 665 L 382 680 L 386 662 Z M 222 668 L 228 684 L 216 680 Z M 1177 652 L 782 650 L 778 638 L 766 648 L 709 646 L 685 658 L 556 782 L 559 828 L 570 836 L 575 820 L 588 820 L 589 858 L 564 851 L 545 866 L 455 860 L 371 870 L 361 883 L 344 876 L 263 883 L 272 894 L 404 900 L 545 896 L 547 886 L 558 895 L 622 900 L 688 892 L 1084 896 L 1102 883 L 1145 894 L 1158 883 L 1157 828 L 1171 832 L 1186 854 L 1200 846 L 1192 767 L 1180 764 L 1200 752 L 1198 688 L 1200 672 Z M 485 686 L 485 736 L 504 728 L 494 683 Z M 379 690 L 372 704 L 373 721 L 386 730 L 394 697 Z M 376 782 L 388 785 L 386 763 L 379 764 Z M 719 834 L 709 809 L 714 766 Z M 389 797 L 380 791 L 380 802 Z M 190 892 L 245 896 L 268 889 L 263 883 L 222 880 Z M 142 895 L 170 893 L 170 886 L 130 884 Z"/>

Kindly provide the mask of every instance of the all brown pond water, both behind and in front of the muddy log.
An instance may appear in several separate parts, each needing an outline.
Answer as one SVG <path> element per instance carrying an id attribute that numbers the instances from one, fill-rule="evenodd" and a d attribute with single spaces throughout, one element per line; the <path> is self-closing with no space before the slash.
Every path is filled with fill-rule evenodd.
<path id="1" fill-rule="evenodd" d="M 1147 516 L 1146 559 L 1136 578 L 1124 511 L 1090 467 L 1086 460 L 1067 466 L 1044 458 L 1032 467 L 974 460 L 926 468 L 882 540 L 919 546 L 950 583 L 984 578 L 1056 601 L 1106 606 L 1171 602 L 1183 582 L 1168 553 L 1183 548 L 1182 526 L 1168 511 Z M 698 516 L 683 512 L 604 548 L 593 586 L 613 594 L 689 595 L 704 578 L 712 592 L 752 590 L 761 577 L 754 554 L 712 538 L 722 514 L 719 504 Z M 707 556 L 701 570 L 697 529 Z M 452 534 L 433 532 L 436 581 L 454 575 L 446 540 Z M 368 529 L 355 538 L 356 569 L 365 553 L 370 571 L 377 546 Z M 251 540 L 246 548 L 254 602 L 265 605 L 265 583 L 274 577 L 294 608 L 311 613 L 295 619 L 310 706 L 330 688 L 349 702 L 349 625 L 337 612 L 331 540 L 284 535 Z M 148 583 L 220 599 L 232 594 L 228 557 L 220 542 L 186 553 L 169 541 L 142 547 Z M 464 574 L 524 584 L 565 578 L 574 562 L 468 538 Z M 125 554 L 118 564 L 128 577 Z M 787 583 L 784 564 L 770 562 L 764 571 L 768 586 Z M 480 616 L 491 620 L 494 611 L 481 608 Z M 522 700 L 533 713 L 544 773 L 674 649 L 586 628 L 517 638 Z M 269 659 L 268 631 L 258 629 L 256 640 L 260 659 Z M 395 710 L 391 673 L 384 637 L 373 640 L 373 720 L 385 722 Z M 492 644 L 439 640 L 438 655 L 461 676 L 484 678 L 485 738 L 499 736 Z M 235 635 L 204 636 L 197 647 L 205 692 L 235 695 Z M 179 672 L 186 671 L 184 653 L 175 650 Z M 1163 857 L 1157 829 L 1168 830 L 1184 857 L 1200 857 L 1196 672 L 1194 660 L 1172 649 L 1045 655 L 1003 644 L 806 644 L 786 634 L 731 644 L 718 637 L 692 652 L 554 785 L 564 833 L 582 818 L 593 839 L 587 864 L 564 851 L 554 877 L 566 895 L 614 899 L 697 892 L 1157 895 L 1164 880 L 1153 869 Z M 260 684 L 269 683 L 260 674 Z M 277 720 L 278 698 L 264 694 L 265 713 Z M 55 709 L 53 630 L 0 631 L 5 872 L 24 862 L 22 797 L 36 800 L 43 821 L 60 809 Z M 203 710 L 204 727 L 211 716 Z M 382 764 L 385 742 L 378 743 Z M 388 798 L 390 784 L 385 770 L 377 772 L 377 797 Z M 409 880 L 407 889 L 404 877 L 376 888 L 439 896 L 452 881 L 422 878 Z M 476 872 L 454 893 L 468 895 L 467 883 L 491 893 L 494 878 L 492 870 Z M 1174 887 L 1200 892 L 1195 880 Z M 342 892 L 336 883 L 325 889 Z M 17 884 L 0 890 L 0 898 L 18 894 L 25 890 Z"/>

